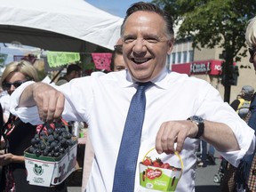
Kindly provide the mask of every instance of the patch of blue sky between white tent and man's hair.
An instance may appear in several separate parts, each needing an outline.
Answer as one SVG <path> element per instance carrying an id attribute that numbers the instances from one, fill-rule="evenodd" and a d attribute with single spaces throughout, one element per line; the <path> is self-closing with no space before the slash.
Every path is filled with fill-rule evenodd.
<path id="1" fill-rule="evenodd" d="M 140 0 L 85 0 L 85 1 L 105 12 L 109 12 L 111 14 L 124 18 L 125 12 L 130 7 L 130 5 L 136 2 L 139 2 Z"/>

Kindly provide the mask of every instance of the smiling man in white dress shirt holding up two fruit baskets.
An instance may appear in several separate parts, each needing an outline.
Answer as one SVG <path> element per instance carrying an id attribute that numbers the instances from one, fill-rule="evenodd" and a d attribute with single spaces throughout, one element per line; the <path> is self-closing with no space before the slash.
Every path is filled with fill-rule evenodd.
<path id="1" fill-rule="evenodd" d="M 180 160 L 172 156 L 175 150 L 180 153 L 184 170 L 176 191 L 195 191 L 199 143 L 195 138 L 212 144 L 234 165 L 247 151 L 252 153 L 253 130 L 223 102 L 212 85 L 170 72 L 165 67 L 174 42 L 172 20 L 166 12 L 150 3 L 132 4 L 122 25 L 121 37 L 126 70 L 92 73 L 92 76 L 77 78 L 55 88 L 30 82 L 12 93 L 12 112 L 24 121 L 36 124 L 39 118 L 52 121 L 63 116 L 67 120 L 88 123 L 95 156 L 87 192 L 112 191 L 116 186 L 113 185 L 116 160 L 137 82 L 153 84 L 146 91 L 146 113 L 135 179 L 124 180 L 135 182 L 133 191 L 144 189 L 140 186 L 139 163 L 152 147 L 158 154 L 169 154 L 165 155 L 165 160 L 170 164 L 180 164 Z M 191 120 L 187 120 L 188 117 Z M 125 154 L 125 151 L 121 152 Z M 124 168 L 129 165 L 124 164 Z"/>

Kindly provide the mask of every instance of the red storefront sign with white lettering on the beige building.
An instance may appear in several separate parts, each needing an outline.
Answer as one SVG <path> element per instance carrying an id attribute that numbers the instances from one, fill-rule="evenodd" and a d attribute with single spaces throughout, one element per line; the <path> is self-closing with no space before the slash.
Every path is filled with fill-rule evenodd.
<path id="1" fill-rule="evenodd" d="M 209 74 L 217 76 L 222 73 L 221 66 L 223 62 L 224 60 L 199 60 L 190 63 L 173 64 L 172 71 L 188 75 Z"/>

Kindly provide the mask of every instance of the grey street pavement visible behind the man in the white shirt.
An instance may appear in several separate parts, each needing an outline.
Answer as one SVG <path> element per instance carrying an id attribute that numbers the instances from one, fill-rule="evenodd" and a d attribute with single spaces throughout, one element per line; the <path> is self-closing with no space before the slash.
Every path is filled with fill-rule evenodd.
<path id="1" fill-rule="evenodd" d="M 206 167 L 196 168 L 196 192 L 220 192 L 220 183 L 214 182 L 214 175 L 219 175 L 220 155 L 215 153 L 215 165 L 208 164 Z M 81 192 L 80 186 L 68 187 L 68 192 Z"/>

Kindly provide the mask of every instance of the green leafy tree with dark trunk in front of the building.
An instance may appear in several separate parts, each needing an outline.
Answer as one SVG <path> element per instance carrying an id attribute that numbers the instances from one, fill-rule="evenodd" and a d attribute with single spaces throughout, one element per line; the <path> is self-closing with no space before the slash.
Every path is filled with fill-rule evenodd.
<path id="1" fill-rule="evenodd" d="M 246 48 L 245 28 L 255 16 L 255 0 L 153 0 L 152 3 L 171 13 L 174 27 L 181 21 L 176 39 L 192 37 L 193 47 L 198 49 L 216 45 L 223 48 L 225 76 L 232 74 L 233 62 L 245 56 L 246 49 L 240 51 Z M 226 101 L 230 97 L 228 79 L 224 84 Z"/>

